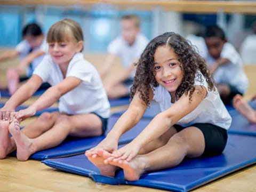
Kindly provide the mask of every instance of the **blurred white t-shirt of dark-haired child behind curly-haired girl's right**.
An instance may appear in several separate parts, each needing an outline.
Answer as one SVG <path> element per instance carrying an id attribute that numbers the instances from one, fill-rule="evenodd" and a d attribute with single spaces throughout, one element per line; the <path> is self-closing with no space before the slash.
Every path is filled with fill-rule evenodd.
<path id="1" fill-rule="evenodd" d="M 245 93 L 248 87 L 248 79 L 243 69 L 243 61 L 230 43 L 225 43 L 220 53 L 221 58 L 226 58 L 230 62 L 220 66 L 213 74 L 215 83 L 233 85 L 236 89 Z M 207 64 L 211 66 L 215 61 L 209 53 L 205 58 Z"/>

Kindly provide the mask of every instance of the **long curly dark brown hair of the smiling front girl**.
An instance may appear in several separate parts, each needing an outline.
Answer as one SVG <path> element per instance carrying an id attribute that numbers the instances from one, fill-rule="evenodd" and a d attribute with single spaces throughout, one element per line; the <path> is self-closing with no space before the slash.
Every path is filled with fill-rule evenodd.
<path id="1" fill-rule="evenodd" d="M 137 65 L 137 70 L 134 76 L 133 85 L 131 87 L 131 100 L 134 94 L 139 91 L 140 98 L 148 106 L 150 87 L 158 86 L 156 82 L 154 70 L 154 54 L 158 46 L 169 45 L 178 55 L 181 70 L 183 71 L 183 79 L 178 89 L 175 92 L 175 99 L 179 100 L 182 94 L 189 94 L 189 101 L 191 101 L 192 94 L 195 91 L 195 77 L 196 81 L 203 82 L 203 77 L 198 71 L 201 71 L 208 83 L 208 90 L 215 91 L 214 80 L 210 74 L 205 60 L 196 52 L 195 48 L 179 34 L 173 32 L 164 33 L 151 40 L 141 54 Z"/>

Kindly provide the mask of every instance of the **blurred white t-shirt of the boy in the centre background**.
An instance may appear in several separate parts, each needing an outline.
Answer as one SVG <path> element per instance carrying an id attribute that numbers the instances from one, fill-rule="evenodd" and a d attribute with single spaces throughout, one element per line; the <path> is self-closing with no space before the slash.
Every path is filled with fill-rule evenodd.
<path id="1" fill-rule="evenodd" d="M 148 44 L 148 39 L 142 34 L 138 34 L 135 42 L 130 46 L 122 36 L 118 36 L 108 46 L 108 53 L 115 54 L 121 59 L 124 68 L 130 67 L 136 59 L 140 58 L 141 53 Z M 135 70 L 130 78 L 135 75 Z"/>

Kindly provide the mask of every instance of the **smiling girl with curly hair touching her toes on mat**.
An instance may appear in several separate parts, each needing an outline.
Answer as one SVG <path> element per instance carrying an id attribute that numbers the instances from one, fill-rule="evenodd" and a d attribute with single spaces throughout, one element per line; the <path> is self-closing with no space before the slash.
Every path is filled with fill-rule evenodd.
<path id="1" fill-rule="evenodd" d="M 176 166 L 185 158 L 222 153 L 231 117 L 220 99 L 209 68 L 178 34 L 154 38 L 141 54 L 131 104 L 105 140 L 85 155 L 101 174 L 124 170 L 126 180 L 146 171 Z M 117 149 L 121 135 L 137 124 L 151 100 L 162 112 L 129 144 Z"/>

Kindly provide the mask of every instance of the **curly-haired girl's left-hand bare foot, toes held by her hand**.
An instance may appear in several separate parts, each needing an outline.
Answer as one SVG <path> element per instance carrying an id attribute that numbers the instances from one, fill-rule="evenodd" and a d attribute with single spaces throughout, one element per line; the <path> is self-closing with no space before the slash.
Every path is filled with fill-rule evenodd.
<path id="1" fill-rule="evenodd" d="M 104 163 L 105 159 L 111 156 L 110 153 L 105 150 L 98 149 L 97 155 L 90 153 L 90 151 L 86 151 L 85 156 L 88 157 L 90 162 L 98 167 L 102 175 L 115 177 L 115 171 L 117 170 L 117 167 Z"/>

